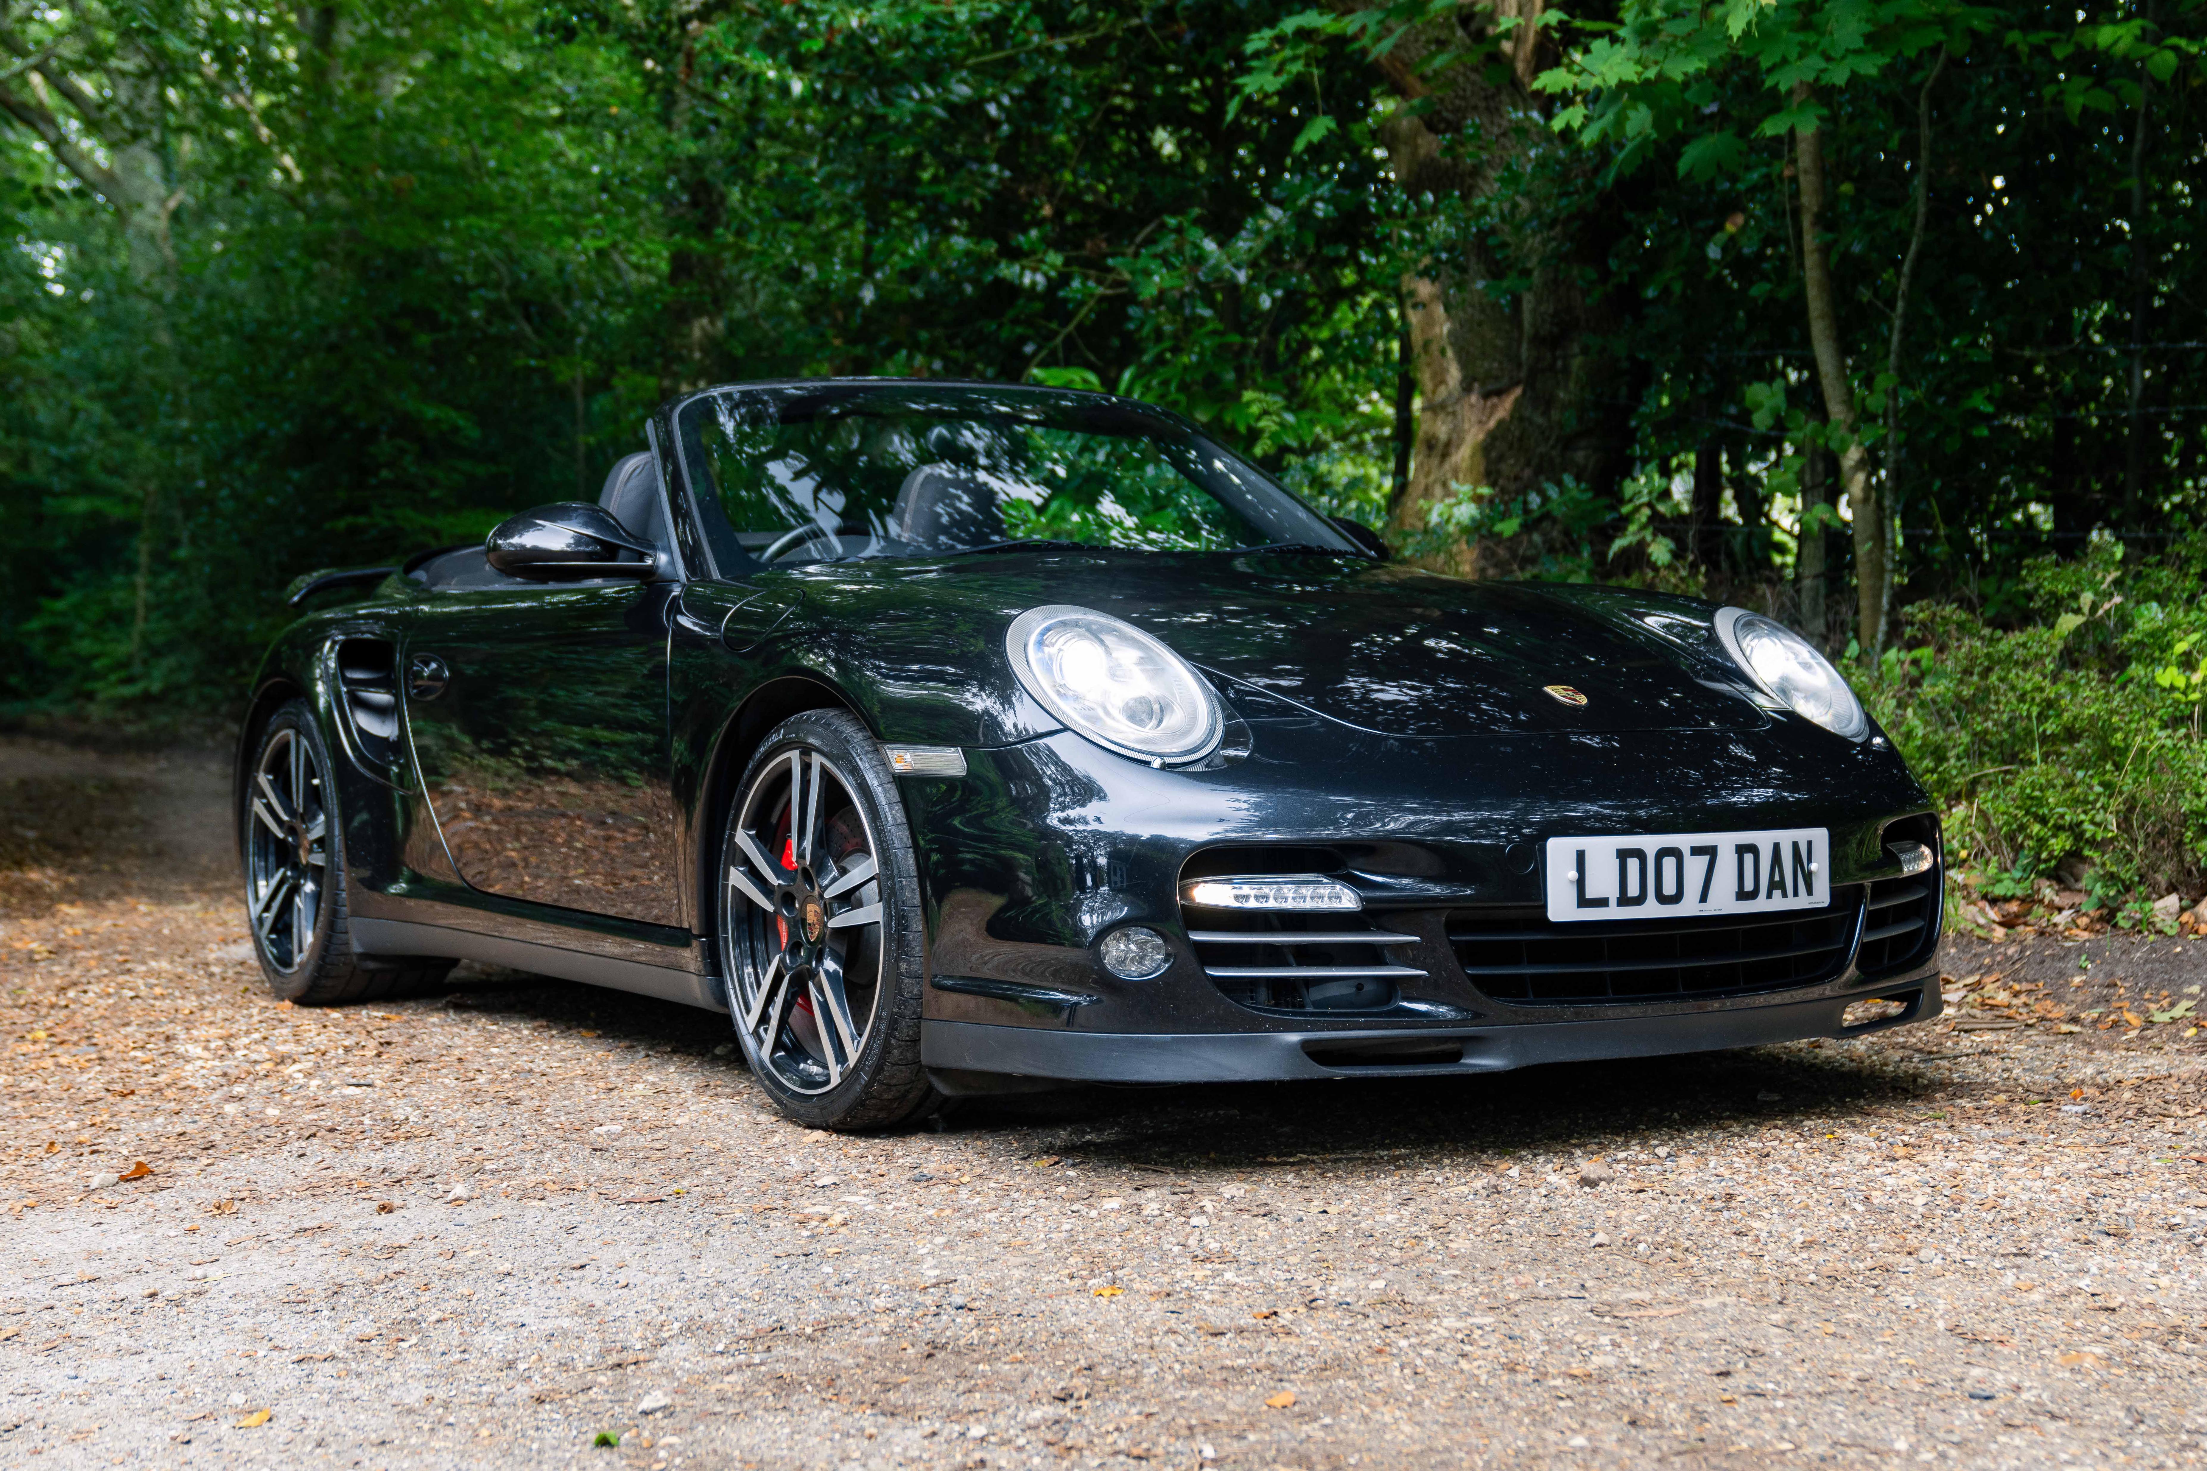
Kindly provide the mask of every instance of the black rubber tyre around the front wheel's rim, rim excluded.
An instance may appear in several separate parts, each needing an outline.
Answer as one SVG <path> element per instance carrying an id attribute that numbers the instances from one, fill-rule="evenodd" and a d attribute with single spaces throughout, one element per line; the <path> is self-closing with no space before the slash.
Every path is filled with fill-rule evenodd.
<path id="1" fill-rule="evenodd" d="M 865 820 L 874 831 L 876 865 L 881 869 L 881 951 L 885 975 L 881 997 L 874 1003 L 874 1026 L 867 1032 L 865 1048 L 859 1054 L 856 1065 L 850 1067 L 841 1083 L 823 1094 L 799 1094 L 781 1085 L 766 1065 L 766 1059 L 759 1056 L 757 1043 L 742 1030 L 737 1012 L 742 997 L 735 988 L 735 977 L 742 973 L 735 955 L 739 913 L 735 911 L 737 900 L 731 895 L 724 878 L 731 865 L 735 827 L 742 820 L 753 787 L 777 759 L 788 759 L 790 750 L 797 745 L 819 750 L 834 761 L 836 770 L 847 779 L 852 798 L 856 798 L 856 803 L 865 809 Z M 881 1096 L 885 1085 L 883 1074 L 889 1070 L 889 1052 L 898 1043 L 905 1043 L 916 1054 L 918 1043 L 920 1006 L 927 986 L 923 942 L 925 917 L 918 902 L 918 860 L 911 849 L 911 827 L 905 820 L 905 803 L 896 792 L 896 774 L 889 770 L 889 763 L 874 743 L 874 737 L 859 723 L 856 717 L 841 710 L 806 710 L 803 715 L 792 715 L 768 732 L 766 741 L 744 767 L 744 779 L 735 785 L 735 794 L 728 801 L 722 823 L 719 867 L 713 871 L 713 889 L 717 895 L 715 928 L 719 933 L 719 964 L 722 973 L 728 977 L 728 1014 L 735 1023 L 737 1045 L 744 1048 L 744 1061 L 750 1065 L 750 1074 L 768 1092 L 775 1105 L 797 1123 L 817 1129 L 892 1123 L 894 1118 L 874 1116 L 885 1109 L 894 1116 L 903 1116 L 909 1114 L 911 1107 L 918 1107 L 918 1096 L 905 1100 L 903 1107 L 898 1107 L 898 1100 Z"/>

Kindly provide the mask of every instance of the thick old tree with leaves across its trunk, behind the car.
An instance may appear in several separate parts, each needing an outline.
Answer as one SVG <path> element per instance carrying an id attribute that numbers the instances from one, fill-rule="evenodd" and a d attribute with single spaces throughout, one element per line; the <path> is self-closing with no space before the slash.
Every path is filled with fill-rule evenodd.
<path id="1" fill-rule="evenodd" d="M 1547 146 L 1532 90 L 1543 20 L 1545 0 L 1399 0 L 1304 11 L 1249 42 L 1251 97 L 1289 95 L 1324 42 L 1368 57 L 1395 95 L 1379 135 L 1415 210 L 1397 254 L 1417 379 L 1397 532 L 1424 532 L 1463 492 L 1609 492 L 1627 465 L 1627 373 L 1602 342 L 1618 329 L 1600 269 L 1613 218 Z M 1481 567 L 1476 545 L 1435 560 Z"/>

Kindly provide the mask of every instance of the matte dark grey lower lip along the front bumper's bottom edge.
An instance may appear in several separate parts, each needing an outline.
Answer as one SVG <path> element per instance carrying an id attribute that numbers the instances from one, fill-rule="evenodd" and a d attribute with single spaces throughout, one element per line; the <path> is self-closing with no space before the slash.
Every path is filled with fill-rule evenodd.
<path id="1" fill-rule="evenodd" d="M 1847 1026 L 1856 1001 L 1900 1001 L 1898 1014 Z M 925 1021 L 920 1061 L 945 1092 L 987 1092 L 960 1074 L 1081 1083 L 1262 1083 L 1282 1078 L 1448 1076 L 1540 1063 L 1587 1063 L 1677 1052 L 1759 1048 L 1808 1037 L 1867 1037 L 1940 1014 L 1936 988 L 1916 979 L 1856 997 L 1777 1001 L 1697 1014 L 1609 1021 L 1521 1021 L 1496 1028 L 1388 1028 L 1324 1032 L 1062 1032 Z"/>

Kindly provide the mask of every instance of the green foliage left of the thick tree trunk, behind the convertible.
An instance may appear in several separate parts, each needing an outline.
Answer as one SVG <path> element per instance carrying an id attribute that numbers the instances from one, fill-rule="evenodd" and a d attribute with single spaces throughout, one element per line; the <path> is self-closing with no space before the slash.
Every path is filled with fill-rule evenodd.
<path id="1" fill-rule="evenodd" d="M 20 55 L 137 99 L 174 265 L 141 271 L 113 207 L 0 121 L 0 701 L 227 708 L 291 576 L 594 498 L 649 408 L 704 382 L 1141 393 L 1366 503 L 1395 196 L 1353 60 L 1232 108 L 1240 26 L 1273 15 L 150 0 L 7 22 Z"/>

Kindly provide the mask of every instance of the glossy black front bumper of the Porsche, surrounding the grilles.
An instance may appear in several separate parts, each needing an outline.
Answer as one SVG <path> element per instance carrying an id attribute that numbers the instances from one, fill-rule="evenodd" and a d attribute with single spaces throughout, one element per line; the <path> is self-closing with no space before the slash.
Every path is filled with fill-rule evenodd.
<path id="1" fill-rule="evenodd" d="M 1547 836 L 1827 827 L 1834 891 L 1889 882 L 1894 823 L 1918 825 L 1936 847 L 1929 798 L 1891 750 L 1801 721 L 1461 741 L 1331 721 L 1251 726 L 1249 756 L 1209 770 L 1159 772 L 1059 732 L 969 750 L 964 781 L 900 783 L 927 900 L 929 1065 L 1128 1083 L 1485 1072 L 1843 1037 L 1854 1032 L 1841 1014 L 1869 997 L 1916 992 L 1902 1021 L 1922 1010 L 1922 981 L 1936 975 L 1936 871 L 1920 951 L 1887 946 L 1872 959 L 1876 926 L 1863 924 L 1814 975 L 1721 997 L 1512 999 L 1472 979 L 1452 933 L 1540 904 Z M 1190 860 L 1227 847 L 1337 858 L 1360 876 L 1364 917 L 1415 937 L 1388 957 L 1417 979 L 1393 1006 L 1362 1012 L 1232 995 L 1203 955 L 1207 939 L 1192 937 L 1207 924 L 1192 926 L 1179 902 Z M 1161 931 L 1172 968 L 1148 981 L 1106 973 L 1095 946 L 1121 924 Z M 1432 1043 L 1435 1056 L 1384 1059 L 1410 1041 Z M 1360 1050 L 1382 1061 L 1326 1061 Z"/>

